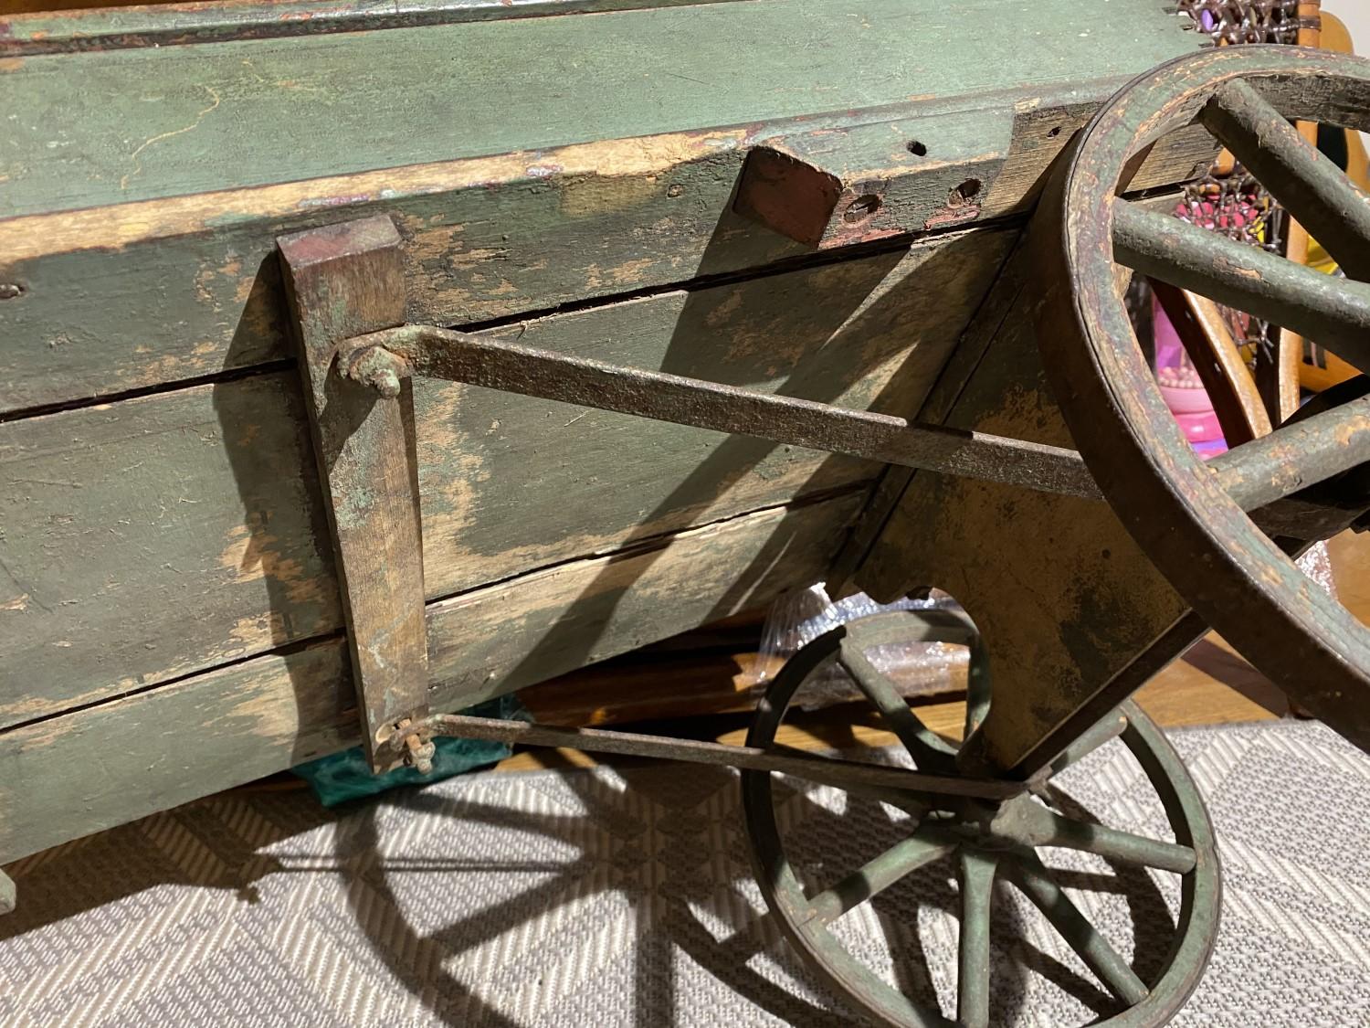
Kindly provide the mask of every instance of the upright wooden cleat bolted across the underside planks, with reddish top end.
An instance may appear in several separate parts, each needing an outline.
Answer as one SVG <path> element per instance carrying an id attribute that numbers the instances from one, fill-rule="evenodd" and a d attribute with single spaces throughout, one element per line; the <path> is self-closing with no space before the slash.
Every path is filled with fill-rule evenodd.
<path id="1" fill-rule="evenodd" d="M 374 217 L 282 236 L 277 245 L 367 758 L 379 773 L 407 754 L 422 770 L 432 746 L 416 733 L 429 672 L 412 392 L 407 381 L 379 389 L 334 373 L 341 340 L 404 322 L 400 234 L 389 218 Z"/>

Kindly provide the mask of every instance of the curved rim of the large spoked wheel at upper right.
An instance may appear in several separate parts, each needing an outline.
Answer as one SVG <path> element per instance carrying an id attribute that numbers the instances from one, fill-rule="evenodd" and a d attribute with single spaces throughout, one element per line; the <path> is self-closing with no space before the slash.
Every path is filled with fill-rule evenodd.
<path id="1" fill-rule="evenodd" d="M 1038 340 L 1081 454 L 1147 555 L 1252 663 L 1370 747 L 1370 632 L 1308 581 L 1189 447 L 1115 285 L 1115 193 L 1129 158 L 1193 122 L 1233 79 L 1256 85 L 1285 117 L 1370 127 L 1370 62 L 1322 51 L 1225 48 L 1133 81 L 1084 130 L 1034 219 Z"/>

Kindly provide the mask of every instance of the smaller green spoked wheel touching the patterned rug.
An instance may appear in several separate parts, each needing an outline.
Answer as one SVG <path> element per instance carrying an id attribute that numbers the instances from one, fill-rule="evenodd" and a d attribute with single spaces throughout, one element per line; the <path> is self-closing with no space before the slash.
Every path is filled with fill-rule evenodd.
<path id="1" fill-rule="evenodd" d="M 880 711 L 885 726 L 899 737 L 904 765 L 911 762 L 917 769 L 934 774 L 956 774 L 956 746 L 919 721 L 871 659 L 877 647 L 911 640 L 970 646 L 969 732 L 984 717 L 989 691 L 973 625 L 964 615 L 951 611 L 897 611 L 849 622 L 800 650 L 766 692 L 748 744 L 775 747 L 777 731 L 796 692 L 830 659 L 836 659 Z M 1155 788 L 1173 840 L 1096 824 L 1049 781 L 1118 737 Z M 743 807 L 762 894 L 789 942 L 821 980 L 880 1023 L 989 1024 L 991 918 L 996 880 L 1021 891 L 1112 995 L 1114 1009 L 1103 1024 L 1118 1028 L 1166 1023 L 1203 973 L 1217 935 L 1221 899 L 1212 829 L 1178 754 L 1155 724 L 1130 703 L 1081 736 L 1047 774 L 1032 783 L 1030 790 L 1011 799 L 992 802 L 884 785 L 848 788 L 847 810 L 852 809 L 854 800 L 860 800 L 877 803 L 891 814 L 881 831 L 888 846 L 860 866 L 832 869 L 827 866 L 830 861 L 825 859 L 815 872 L 814 862 L 806 857 L 803 839 L 782 831 L 782 818 L 777 813 L 782 800 L 778 784 L 773 772 L 743 772 Z M 1141 954 L 1132 961 L 1125 959 L 1044 861 L 1043 850 L 1049 847 L 1097 854 L 1119 870 L 1151 868 L 1178 876 L 1178 924 L 1170 921 L 1169 914 L 1162 914 L 1164 925 L 1147 925 L 1144 933 L 1136 932 L 1138 946 L 1143 935 L 1147 939 L 1155 939 L 1158 932 L 1169 935 L 1166 953 L 1159 957 L 1145 954 L 1147 959 L 1140 959 Z M 844 851 L 848 848 L 843 847 Z M 896 890 L 896 885 L 921 879 L 921 872 L 941 861 L 955 868 L 959 883 L 954 1012 L 944 1012 L 936 998 L 908 995 L 912 990 L 896 987 L 878 968 L 863 961 L 860 954 L 869 955 L 869 947 L 848 946 L 837 931 L 840 920 L 849 913 L 867 903 L 884 902 L 896 892 L 901 898 L 896 922 L 917 927 L 918 892 L 907 887 Z M 1093 879 L 1074 876 L 1073 881 L 1077 880 Z M 1104 883 L 1099 887 L 1108 888 Z M 877 901 L 881 894 L 885 898 Z M 1000 951 L 1014 951 L 1007 944 L 1011 940 L 996 942 Z M 1147 968 L 1145 976 L 1137 970 L 1141 966 Z M 929 981 L 941 975 L 941 968 L 919 968 L 910 975 L 900 975 L 896 969 L 896 980 Z"/>

